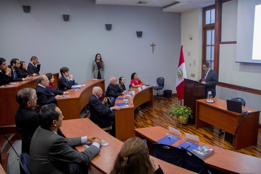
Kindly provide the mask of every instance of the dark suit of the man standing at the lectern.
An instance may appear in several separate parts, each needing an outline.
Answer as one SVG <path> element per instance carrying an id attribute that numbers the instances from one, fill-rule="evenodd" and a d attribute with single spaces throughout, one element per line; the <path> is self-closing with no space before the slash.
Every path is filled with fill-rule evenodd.
<path id="1" fill-rule="evenodd" d="M 199 82 L 203 81 L 205 71 L 202 73 L 201 79 Z M 212 97 L 216 96 L 216 84 L 218 82 L 218 75 L 216 71 L 210 69 L 207 73 L 207 76 L 205 78 L 205 99 L 207 99 L 207 94 L 209 91 L 212 93 Z"/>

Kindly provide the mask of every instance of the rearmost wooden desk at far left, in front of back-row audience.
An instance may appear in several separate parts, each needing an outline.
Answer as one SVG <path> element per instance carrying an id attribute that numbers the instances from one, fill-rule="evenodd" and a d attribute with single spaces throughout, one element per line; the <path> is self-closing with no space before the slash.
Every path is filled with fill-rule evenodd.
<path id="1" fill-rule="evenodd" d="M 54 86 L 57 86 L 57 81 L 59 79 L 58 72 L 51 72 L 54 76 Z M 17 81 L 17 84 L 6 86 L 0 86 L 0 96 L 2 103 L 0 105 L 0 126 L 14 125 L 15 124 L 15 114 L 19 108 L 16 101 L 16 95 L 19 90 L 23 88 L 33 88 L 36 89 L 38 76 L 33 77 L 32 80 Z"/>

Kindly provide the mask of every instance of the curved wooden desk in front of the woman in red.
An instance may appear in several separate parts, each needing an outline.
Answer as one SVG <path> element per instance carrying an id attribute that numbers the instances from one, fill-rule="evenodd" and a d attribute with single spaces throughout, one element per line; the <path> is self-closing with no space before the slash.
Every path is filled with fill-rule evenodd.
<path id="1" fill-rule="evenodd" d="M 130 91 L 134 91 L 135 94 L 127 96 L 129 106 L 115 111 L 115 135 L 119 140 L 126 140 L 135 136 L 134 110 L 144 103 L 146 103 L 147 106 L 153 106 L 153 86 L 147 86 L 147 88 L 142 91 L 138 91 L 138 89 L 131 89 Z M 118 98 L 123 97 L 124 96 L 118 96 Z M 117 99 L 115 100 L 115 105 L 125 103 L 125 101 Z"/>

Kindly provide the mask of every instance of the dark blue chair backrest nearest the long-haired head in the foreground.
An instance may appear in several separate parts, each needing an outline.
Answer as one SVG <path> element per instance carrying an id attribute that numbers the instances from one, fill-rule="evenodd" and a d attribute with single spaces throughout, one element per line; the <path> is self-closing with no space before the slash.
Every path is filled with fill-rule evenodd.
<path id="1" fill-rule="evenodd" d="M 165 144 L 152 144 L 152 155 L 177 166 L 182 166 L 184 159 L 183 150 Z"/>

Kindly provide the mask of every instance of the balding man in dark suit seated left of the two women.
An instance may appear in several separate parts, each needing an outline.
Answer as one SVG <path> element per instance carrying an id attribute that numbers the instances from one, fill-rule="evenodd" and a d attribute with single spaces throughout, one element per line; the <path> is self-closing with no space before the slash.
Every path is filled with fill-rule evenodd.
<path id="1" fill-rule="evenodd" d="M 116 99 L 118 96 L 127 93 L 126 91 L 123 91 L 119 88 L 119 86 L 117 85 L 117 79 L 115 77 L 110 77 L 109 82 L 110 83 L 106 90 L 106 94 L 107 94 L 106 97 L 113 97 L 114 99 Z"/>

